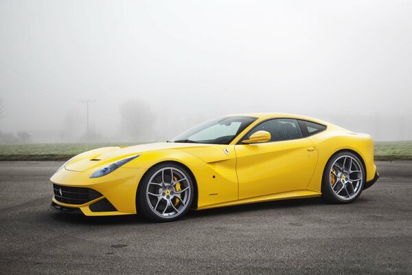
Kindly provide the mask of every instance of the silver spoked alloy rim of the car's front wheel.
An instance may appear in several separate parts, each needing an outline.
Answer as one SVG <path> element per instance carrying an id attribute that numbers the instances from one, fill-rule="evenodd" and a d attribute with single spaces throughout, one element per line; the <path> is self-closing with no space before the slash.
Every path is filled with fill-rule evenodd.
<path id="1" fill-rule="evenodd" d="M 150 177 L 146 198 L 150 209 L 162 218 L 179 216 L 189 207 L 192 184 L 183 170 L 164 167 Z"/>

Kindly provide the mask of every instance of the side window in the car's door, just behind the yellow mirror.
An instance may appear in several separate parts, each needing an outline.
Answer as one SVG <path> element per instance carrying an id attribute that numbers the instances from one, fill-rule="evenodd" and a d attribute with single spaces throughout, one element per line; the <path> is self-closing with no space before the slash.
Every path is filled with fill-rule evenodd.
<path id="1" fill-rule="evenodd" d="M 255 126 L 255 128 L 248 133 L 244 139 L 249 139 L 249 137 L 257 131 L 266 131 L 271 133 L 271 142 L 296 140 L 303 137 L 297 120 L 289 118 L 279 118 L 262 122 L 258 126 Z"/>

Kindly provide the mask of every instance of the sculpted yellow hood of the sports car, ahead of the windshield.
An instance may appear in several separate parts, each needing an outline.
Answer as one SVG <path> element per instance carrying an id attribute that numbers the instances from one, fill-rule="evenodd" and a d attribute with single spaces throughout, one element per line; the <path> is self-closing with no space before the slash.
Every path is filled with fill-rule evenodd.
<path id="1" fill-rule="evenodd" d="M 184 150 L 192 148 L 208 148 L 218 146 L 216 144 L 196 144 L 196 143 L 174 143 L 174 142 L 157 142 L 150 144 L 140 144 L 126 147 L 104 147 L 91 151 L 87 151 L 74 157 L 68 164 L 65 165 L 67 170 L 72 171 L 87 171 L 97 170 L 98 168 L 116 162 L 117 160 L 126 157 L 132 157 L 150 151 L 160 150 Z"/>

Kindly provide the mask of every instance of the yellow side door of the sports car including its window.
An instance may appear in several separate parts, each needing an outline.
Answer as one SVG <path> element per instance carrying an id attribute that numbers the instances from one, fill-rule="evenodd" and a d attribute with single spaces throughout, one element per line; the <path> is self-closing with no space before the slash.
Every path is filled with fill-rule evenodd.
<path id="1" fill-rule="evenodd" d="M 305 190 L 317 166 L 318 152 L 315 144 L 303 137 L 297 120 L 266 120 L 242 140 L 256 131 L 268 131 L 271 140 L 236 144 L 239 199 Z"/>

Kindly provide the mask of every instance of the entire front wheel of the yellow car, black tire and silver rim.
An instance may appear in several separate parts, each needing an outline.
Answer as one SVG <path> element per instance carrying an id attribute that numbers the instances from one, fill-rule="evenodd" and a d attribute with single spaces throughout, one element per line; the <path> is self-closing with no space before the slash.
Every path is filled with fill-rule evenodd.
<path id="1" fill-rule="evenodd" d="M 193 182 L 178 164 L 160 164 L 148 170 L 137 194 L 138 210 L 154 221 L 174 221 L 189 210 Z"/>

